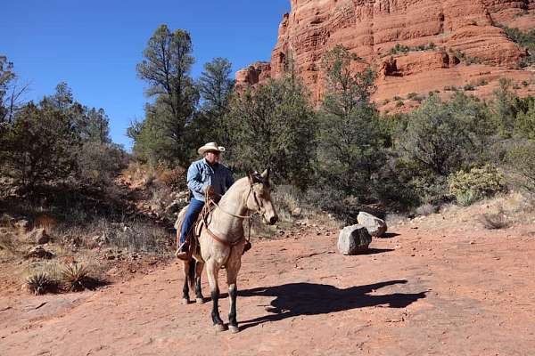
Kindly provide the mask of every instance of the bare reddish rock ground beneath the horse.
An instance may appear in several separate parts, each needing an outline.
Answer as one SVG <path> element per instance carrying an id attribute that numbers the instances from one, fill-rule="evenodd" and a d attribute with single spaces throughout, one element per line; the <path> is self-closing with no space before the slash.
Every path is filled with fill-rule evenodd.
<path id="1" fill-rule="evenodd" d="M 534 223 L 435 214 L 391 231 L 358 256 L 335 251 L 336 231 L 257 241 L 235 335 L 214 331 L 211 303 L 180 304 L 175 263 L 96 292 L 0 296 L 0 354 L 532 354 Z"/>

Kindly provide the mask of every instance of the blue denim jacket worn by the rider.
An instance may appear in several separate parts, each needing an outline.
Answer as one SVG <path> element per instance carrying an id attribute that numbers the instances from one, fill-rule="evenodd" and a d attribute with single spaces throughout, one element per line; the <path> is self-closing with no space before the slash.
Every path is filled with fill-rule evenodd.
<path id="1" fill-rule="evenodd" d="M 216 198 L 219 198 L 232 184 L 234 177 L 230 169 L 220 163 L 210 166 L 204 158 L 193 162 L 187 170 L 187 186 L 197 200 L 204 201 L 204 188 L 207 185 L 214 187 Z"/>

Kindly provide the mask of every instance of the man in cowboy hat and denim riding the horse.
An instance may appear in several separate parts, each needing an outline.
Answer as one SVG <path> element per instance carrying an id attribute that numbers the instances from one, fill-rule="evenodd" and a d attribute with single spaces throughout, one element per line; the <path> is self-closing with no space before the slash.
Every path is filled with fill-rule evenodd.
<path id="1" fill-rule="evenodd" d="M 219 163 L 221 152 L 225 148 L 218 146 L 216 142 L 210 142 L 198 150 L 204 158 L 192 163 L 187 170 L 187 186 L 193 192 L 184 223 L 180 231 L 180 247 L 178 247 L 177 257 L 184 259 L 189 251 L 189 244 L 185 241 L 185 236 L 204 206 L 204 196 L 208 192 L 216 201 L 225 194 L 226 190 L 234 183 L 234 178 L 230 170 Z"/>

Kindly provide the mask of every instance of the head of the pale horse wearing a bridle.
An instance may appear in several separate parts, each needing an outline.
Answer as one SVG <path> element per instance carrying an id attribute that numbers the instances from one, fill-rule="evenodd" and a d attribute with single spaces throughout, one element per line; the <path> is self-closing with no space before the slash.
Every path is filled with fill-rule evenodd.
<path id="1" fill-rule="evenodd" d="M 269 182 L 269 168 L 262 174 L 254 172 L 249 174 L 251 190 L 247 196 L 246 205 L 251 211 L 258 212 L 265 223 L 274 225 L 278 216 L 271 200 L 271 184 Z"/>

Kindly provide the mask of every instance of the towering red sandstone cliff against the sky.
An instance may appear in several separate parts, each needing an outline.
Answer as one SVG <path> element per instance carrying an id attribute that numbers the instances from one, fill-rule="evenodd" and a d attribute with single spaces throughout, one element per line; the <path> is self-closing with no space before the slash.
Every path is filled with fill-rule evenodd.
<path id="1" fill-rule="evenodd" d="M 314 98 L 319 99 L 324 86 L 321 59 L 336 44 L 344 45 L 362 59 L 357 67 L 369 65 L 377 70 L 377 102 L 412 92 L 442 91 L 447 85 L 475 84 L 481 79 L 531 80 L 531 71 L 518 68 L 526 51 L 495 25 L 532 28 L 535 0 L 291 3 L 292 11 L 284 14 L 279 26 L 271 63 L 260 62 L 242 69 L 236 74 L 238 85 L 255 85 L 268 77 L 280 77 L 292 56 L 300 76 Z M 435 47 L 390 54 L 396 44 Z"/>

